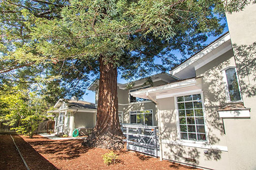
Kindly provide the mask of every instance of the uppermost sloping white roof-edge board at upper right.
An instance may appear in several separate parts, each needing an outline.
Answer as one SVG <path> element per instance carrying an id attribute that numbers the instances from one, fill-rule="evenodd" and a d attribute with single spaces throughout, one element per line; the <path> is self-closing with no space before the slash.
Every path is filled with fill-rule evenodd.
<path id="1" fill-rule="evenodd" d="M 178 67 L 176 67 L 175 69 L 171 70 L 170 74 L 172 74 L 172 75 L 177 74 L 178 72 L 182 71 L 184 68 L 186 68 L 189 65 L 191 65 L 192 63 L 196 62 L 198 59 L 200 59 L 203 56 L 205 56 L 206 54 L 210 53 L 211 51 L 213 51 L 217 47 L 221 46 L 222 44 L 224 44 L 228 40 L 230 40 L 230 33 L 227 33 L 222 38 L 218 39 L 213 44 L 211 44 L 209 47 L 207 47 L 204 50 L 202 50 L 197 55 L 191 57 L 190 59 L 188 59 L 187 61 L 185 61 L 184 63 L 182 63 Z"/>

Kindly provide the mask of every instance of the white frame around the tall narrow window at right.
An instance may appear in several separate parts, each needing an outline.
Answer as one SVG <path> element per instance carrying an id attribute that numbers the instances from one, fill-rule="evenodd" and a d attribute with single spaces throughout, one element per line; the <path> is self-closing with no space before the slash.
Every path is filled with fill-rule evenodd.
<path id="1" fill-rule="evenodd" d="M 234 68 L 234 69 L 235 69 L 236 77 L 237 77 L 237 84 L 238 84 L 238 89 L 239 89 L 239 94 L 240 94 L 241 100 L 235 100 L 235 101 L 231 101 L 231 100 L 230 100 L 228 79 L 227 79 L 227 75 L 226 75 L 226 70 L 228 70 L 228 69 L 230 69 L 230 68 Z M 238 78 L 238 74 L 237 74 L 237 68 L 236 68 L 235 66 L 229 66 L 229 67 L 226 67 L 226 68 L 222 69 L 221 72 L 222 72 L 222 76 L 223 76 L 223 82 L 225 83 L 225 93 L 226 93 L 227 103 L 242 102 L 242 101 L 243 101 L 243 98 L 242 98 L 242 93 L 241 93 L 241 88 L 240 88 L 240 82 L 239 82 L 239 78 Z"/>

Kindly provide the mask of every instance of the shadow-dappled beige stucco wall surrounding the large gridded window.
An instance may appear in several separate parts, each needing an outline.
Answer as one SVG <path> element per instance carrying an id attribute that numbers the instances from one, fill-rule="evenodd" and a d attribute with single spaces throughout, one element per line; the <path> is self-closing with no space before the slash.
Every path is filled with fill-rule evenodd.
<path id="1" fill-rule="evenodd" d="M 228 66 L 235 66 L 232 50 L 196 70 L 197 76 L 202 76 L 196 80 L 197 86 L 203 91 L 204 116 L 208 131 L 207 146 L 214 146 L 217 149 L 193 145 L 188 147 L 186 145 L 189 145 L 189 142 L 180 143 L 182 141 L 178 139 L 174 97 L 170 97 L 157 100 L 161 115 L 163 158 L 213 169 L 230 169 L 227 139 L 222 119 L 217 112 L 218 106 L 226 103 L 225 84 L 221 71 Z M 204 154 L 204 151 L 208 151 L 208 154 Z M 196 159 L 196 162 L 186 161 L 185 158 Z"/>

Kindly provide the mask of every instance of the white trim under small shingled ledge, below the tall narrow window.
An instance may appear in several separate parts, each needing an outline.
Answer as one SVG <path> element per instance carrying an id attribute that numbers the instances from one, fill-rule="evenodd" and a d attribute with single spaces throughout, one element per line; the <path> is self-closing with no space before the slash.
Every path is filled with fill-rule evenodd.
<path id="1" fill-rule="evenodd" d="M 229 111 L 218 111 L 219 117 L 229 118 L 229 117 L 250 117 L 249 110 L 229 110 Z"/>

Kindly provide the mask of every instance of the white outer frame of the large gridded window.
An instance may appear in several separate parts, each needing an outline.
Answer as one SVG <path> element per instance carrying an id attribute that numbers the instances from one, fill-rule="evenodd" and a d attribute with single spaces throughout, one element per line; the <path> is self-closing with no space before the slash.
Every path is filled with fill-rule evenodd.
<path id="1" fill-rule="evenodd" d="M 206 135 L 206 140 L 205 141 L 193 141 L 193 140 L 184 140 L 181 139 L 181 131 L 180 131 L 180 125 L 179 125 L 179 111 L 178 111 L 178 106 L 177 106 L 177 97 L 179 96 L 187 96 L 187 95 L 196 95 L 200 94 L 201 95 L 201 100 L 202 100 L 202 109 L 203 109 L 203 118 L 204 118 L 204 125 L 205 125 L 205 135 Z M 191 92 L 189 91 L 187 93 L 184 93 L 182 95 L 175 95 L 174 96 L 174 102 L 175 102 L 175 112 L 176 112 L 176 121 L 177 121 L 177 139 L 178 141 L 184 142 L 184 143 L 195 143 L 195 144 L 209 144 L 209 133 L 208 133 L 208 125 L 206 122 L 206 117 L 205 117 L 205 105 L 204 105 L 204 96 L 203 96 L 203 91 L 201 92 Z M 196 121 L 196 120 L 195 120 Z"/>

